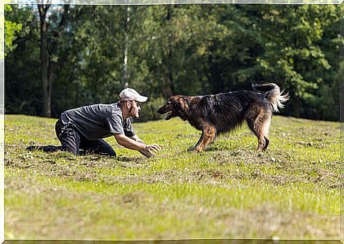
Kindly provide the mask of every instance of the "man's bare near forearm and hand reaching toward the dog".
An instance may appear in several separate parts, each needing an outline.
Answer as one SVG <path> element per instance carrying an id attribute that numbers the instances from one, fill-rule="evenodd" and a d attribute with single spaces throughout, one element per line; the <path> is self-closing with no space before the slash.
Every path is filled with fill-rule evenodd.
<path id="1" fill-rule="evenodd" d="M 140 138 L 138 138 L 137 135 L 134 135 L 133 137 L 129 138 L 126 135 L 123 134 L 113 134 L 114 137 L 117 140 L 117 143 L 124 148 L 128 148 L 131 150 L 137 150 L 146 157 L 152 157 L 154 156 L 154 153 L 157 153 L 161 150 L 160 145 L 145 145 Z"/>

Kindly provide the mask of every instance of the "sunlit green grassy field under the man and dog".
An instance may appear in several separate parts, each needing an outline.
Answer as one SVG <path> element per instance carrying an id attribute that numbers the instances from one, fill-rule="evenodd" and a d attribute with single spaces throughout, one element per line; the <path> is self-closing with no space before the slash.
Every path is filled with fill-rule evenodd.
<path id="1" fill-rule="evenodd" d="M 263 153 L 243 126 L 195 155 L 178 118 L 134 123 L 152 159 L 114 138 L 117 159 L 25 150 L 59 145 L 54 126 L 5 116 L 6 239 L 339 238 L 339 123 L 274 116 Z"/>

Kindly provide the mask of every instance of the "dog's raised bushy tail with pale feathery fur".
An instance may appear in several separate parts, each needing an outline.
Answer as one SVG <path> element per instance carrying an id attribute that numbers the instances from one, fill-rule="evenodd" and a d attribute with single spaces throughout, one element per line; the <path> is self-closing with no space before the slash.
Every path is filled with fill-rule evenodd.
<path id="1" fill-rule="evenodd" d="M 283 103 L 289 100 L 289 93 L 283 94 L 284 91 L 280 91 L 277 84 L 252 84 L 252 87 L 255 91 L 265 94 L 265 97 L 270 102 L 272 111 L 274 112 L 278 112 L 278 109 L 283 109 Z"/>

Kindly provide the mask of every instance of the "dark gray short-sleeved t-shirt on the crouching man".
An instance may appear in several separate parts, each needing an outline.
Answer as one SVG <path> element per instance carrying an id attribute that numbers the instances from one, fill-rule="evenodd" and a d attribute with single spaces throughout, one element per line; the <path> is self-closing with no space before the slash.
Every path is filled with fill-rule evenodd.
<path id="1" fill-rule="evenodd" d="M 70 109 L 61 114 L 64 124 L 72 123 L 89 140 L 107 138 L 113 134 L 133 136 L 132 118 L 124 119 L 118 103 L 94 104 Z"/>

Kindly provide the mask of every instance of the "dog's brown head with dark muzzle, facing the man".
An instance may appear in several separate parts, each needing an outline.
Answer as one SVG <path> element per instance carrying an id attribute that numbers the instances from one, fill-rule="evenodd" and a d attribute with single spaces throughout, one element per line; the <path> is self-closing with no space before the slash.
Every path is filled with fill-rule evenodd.
<path id="1" fill-rule="evenodd" d="M 167 99 L 166 104 L 157 109 L 157 112 L 160 114 L 167 113 L 167 116 L 165 117 L 167 121 L 175 116 L 179 116 L 180 118 L 186 120 L 186 114 L 189 111 L 189 104 L 187 102 L 188 100 L 189 99 L 187 96 L 171 96 L 169 99 Z"/>

